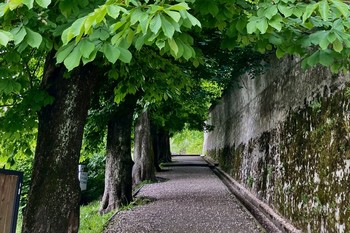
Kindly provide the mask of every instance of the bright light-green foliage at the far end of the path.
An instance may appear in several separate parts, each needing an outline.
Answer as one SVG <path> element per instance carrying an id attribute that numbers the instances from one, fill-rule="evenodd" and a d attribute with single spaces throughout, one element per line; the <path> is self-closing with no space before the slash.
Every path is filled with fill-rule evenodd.
<path id="1" fill-rule="evenodd" d="M 184 129 L 170 140 L 172 154 L 201 154 L 204 133 Z"/>

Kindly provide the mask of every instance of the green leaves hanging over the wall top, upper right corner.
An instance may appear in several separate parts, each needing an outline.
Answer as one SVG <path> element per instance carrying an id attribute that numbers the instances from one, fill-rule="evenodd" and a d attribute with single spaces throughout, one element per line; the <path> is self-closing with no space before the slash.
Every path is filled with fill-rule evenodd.
<path id="1" fill-rule="evenodd" d="M 253 46 L 278 57 L 298 55 L 304 67 L 349 68 L 349 5 L 341 0 L 197 0 L 204 28 L 224 35 L 223 47 Z M 210 9 L 210 10 L 209 10 Z"/>

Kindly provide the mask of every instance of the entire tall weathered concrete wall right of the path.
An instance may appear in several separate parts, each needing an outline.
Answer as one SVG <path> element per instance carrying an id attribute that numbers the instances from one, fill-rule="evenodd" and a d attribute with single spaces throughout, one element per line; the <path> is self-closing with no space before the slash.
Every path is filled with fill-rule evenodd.
<path id="1" fill-rule="evenodd" d="M 349 81 L 275 61 L 211 110 L 203 151 L 304 232 L 350 232 Z"/>

